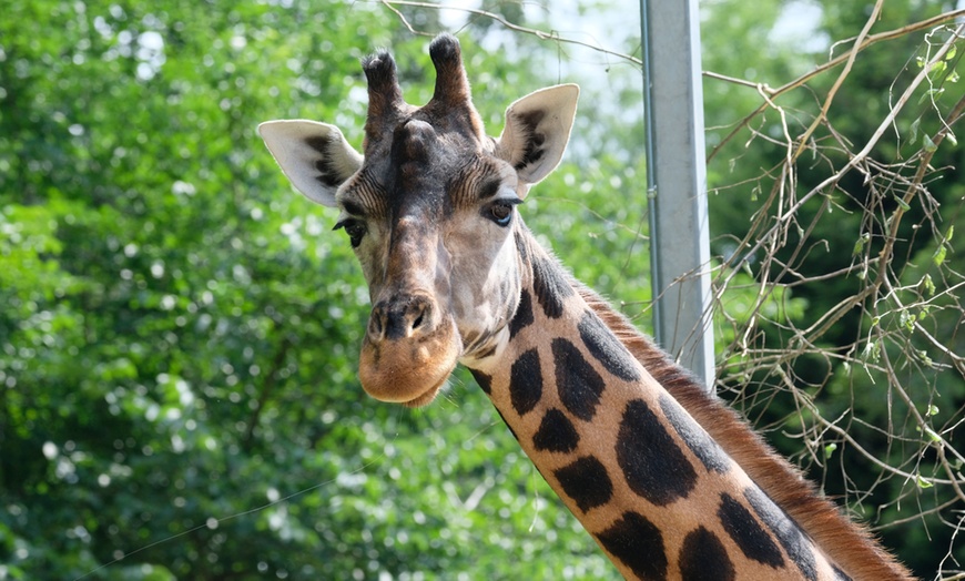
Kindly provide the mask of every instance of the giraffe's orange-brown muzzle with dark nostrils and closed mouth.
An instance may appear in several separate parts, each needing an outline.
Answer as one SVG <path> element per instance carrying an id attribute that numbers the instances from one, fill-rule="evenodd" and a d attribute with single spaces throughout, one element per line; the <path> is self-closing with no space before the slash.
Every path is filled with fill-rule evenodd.
<path id="1" fill-rule="evenodd" d="M 419 407 L 445 385 L 461 354 L 456 325 L 425 295 L 398 294 L 372 309 L 359 379 L 372 397 Z"/>

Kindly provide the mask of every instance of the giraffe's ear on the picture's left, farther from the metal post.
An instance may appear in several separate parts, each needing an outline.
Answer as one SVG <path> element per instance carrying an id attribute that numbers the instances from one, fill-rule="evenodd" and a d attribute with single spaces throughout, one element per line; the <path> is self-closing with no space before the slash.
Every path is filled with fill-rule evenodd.
<path id="1" fill-rule="evenodd" d="M 258 125 L 265 145 L 305 197 L 335 206 L 335 192 L 359 167 L 355 151 L 338 128 L 315 121 L 266 121 Z"/>

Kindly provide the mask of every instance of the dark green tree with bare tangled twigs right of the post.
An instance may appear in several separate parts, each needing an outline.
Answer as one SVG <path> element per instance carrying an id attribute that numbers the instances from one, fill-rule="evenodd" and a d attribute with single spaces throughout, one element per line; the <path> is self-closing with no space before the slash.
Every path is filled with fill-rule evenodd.
<path id="1" fill-rule="evenodd" d="M 965 397 L 962 264 L 948 252 L 962 208 L 961 29 L 943 8 L 821 3 L 813 52 L 795 57 L 812 54 L 815 72 L 783 72 L 795 61 L 779 57 L 760 61 L 774 67 L 762 74 L 755 61 L 750 80 L 770 86 L 709 82 L 744 112 L 723 121 L 708 103 L 719 115 L 711 204 L 733 340 L 723 380 L 922 577 L 953 575 L 965 558 L 953 439 Z M 732 22 L 721 14 L 735 10 L 710 4 L 709 20 Z M 780 47 L 771 26 L 751 30 L 742 47 Z M 745 61 L 719 50 L 707 48 L 717 79 L 745 74 L 733 70 Z M 733 283 L 756 297 L 731 295 L 729 309 Z"/>

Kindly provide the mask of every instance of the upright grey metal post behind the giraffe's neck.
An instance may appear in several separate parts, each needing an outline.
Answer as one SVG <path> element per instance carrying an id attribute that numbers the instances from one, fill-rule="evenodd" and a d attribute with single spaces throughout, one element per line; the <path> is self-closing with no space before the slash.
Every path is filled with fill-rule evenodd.
<path id="1" fill-rule="evenodd" d="M 657 342 L 712 389 L 710 234 L 697 0 L 640 0 Z"/>

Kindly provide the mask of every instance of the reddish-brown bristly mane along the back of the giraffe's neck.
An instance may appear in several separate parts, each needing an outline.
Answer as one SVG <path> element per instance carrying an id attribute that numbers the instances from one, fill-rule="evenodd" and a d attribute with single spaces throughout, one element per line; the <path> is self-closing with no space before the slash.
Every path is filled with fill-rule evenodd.
<path id="1" fill-rule="evenodd" d="M 572 278 L 570 283 L 647 371 L 831 559 L 855 579 L 911 577 L 865 526 L 846 518 L 837 504 L 821 496 L 800 469 L 775 452 L 735 410 L 710 395 L 700 379 L 674 363 L 589 287 Z"/>

